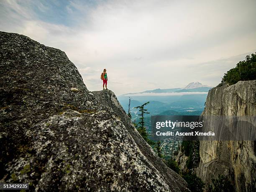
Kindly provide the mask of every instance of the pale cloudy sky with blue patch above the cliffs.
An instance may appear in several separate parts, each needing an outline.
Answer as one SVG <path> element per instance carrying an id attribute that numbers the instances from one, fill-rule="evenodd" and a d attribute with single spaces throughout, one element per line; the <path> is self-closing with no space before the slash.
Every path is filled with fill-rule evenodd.
<path id="1" fill-rule="evenodd" d="M 0 31 L 65 51 L 88 90 L 220 83 L 256 52 L 255 0 L 0 0 Z"/>

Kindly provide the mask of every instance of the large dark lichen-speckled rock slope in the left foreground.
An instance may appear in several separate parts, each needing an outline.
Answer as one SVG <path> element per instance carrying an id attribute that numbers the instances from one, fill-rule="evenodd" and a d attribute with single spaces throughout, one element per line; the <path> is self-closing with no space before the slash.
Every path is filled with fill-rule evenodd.
<path id="1" fill-rule="evenodd" d="M 31 191 L 187 190 L 140 145 L 123 109 L 87 90 L 63 51 L 0 32 L 0 67 L 0 182 L 28 182 Z"/>

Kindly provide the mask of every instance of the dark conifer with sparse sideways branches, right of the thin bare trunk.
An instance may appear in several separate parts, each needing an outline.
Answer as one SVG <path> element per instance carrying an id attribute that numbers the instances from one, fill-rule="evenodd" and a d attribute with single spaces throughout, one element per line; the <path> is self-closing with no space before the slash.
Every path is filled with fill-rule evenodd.
<path id="1" fill-rule="evenodd" d="M 141 136 L 143 137 L 143 139 L 149 144 L 149 145 L 154 145 L 155 142 L 154 141 L 151 141 L 148 136 L 149 134 L 147 133 L 146 131 L 146 127 L 144 126 L 145 125 L 145 121 L 144 121 L 144 114 L 148 114 L 148 110 L 144 109 L 144 107 L 146 105 L 148 105 L 149 101 L 144 103 L 143 105 L 141 106 L 138 106 L 138 107 L 135 107 L 135 109 L 139 109 L 139 112 L 141 114 L 139 114 L 141 116 L 140 118 L 140 122 L 138 124 L 140 124 L 137 128 L 138 132 L 141 134 Z"/>

